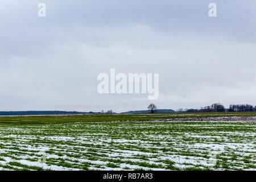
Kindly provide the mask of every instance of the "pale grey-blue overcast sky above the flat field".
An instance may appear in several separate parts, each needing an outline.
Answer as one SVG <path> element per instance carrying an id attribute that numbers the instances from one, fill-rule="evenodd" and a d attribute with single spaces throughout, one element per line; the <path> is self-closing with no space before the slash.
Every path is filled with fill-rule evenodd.
<path id="1" fill-rule="evenodd" d="M 0 110 L 256 105 L 255 18 L 255 0 L 1 0 Z M 99 94 L 110 68 L 159 73 L 158 100 Z"/>

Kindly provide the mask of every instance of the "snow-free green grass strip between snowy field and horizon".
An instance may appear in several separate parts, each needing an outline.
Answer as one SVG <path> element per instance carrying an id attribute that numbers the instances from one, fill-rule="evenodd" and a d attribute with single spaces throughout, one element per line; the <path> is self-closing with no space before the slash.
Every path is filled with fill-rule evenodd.
<path id="1" fill-rule="evenodd" d="M 146 117 L 145 117 L 146 116 Z M 84 114 L 0 117 L 2 124 L 149 121 L 153 119 L 207 118 L 207 117 L 250 117 L 256 113 L 167 113 L 167 114 Z"/>

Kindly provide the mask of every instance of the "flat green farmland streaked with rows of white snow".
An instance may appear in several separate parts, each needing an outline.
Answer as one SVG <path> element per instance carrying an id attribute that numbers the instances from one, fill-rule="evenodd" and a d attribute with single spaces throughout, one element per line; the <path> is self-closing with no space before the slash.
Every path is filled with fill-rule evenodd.
<path id="1" fill-rule="evenodd" d="M 0 117 L 0 170 L 255 170 L 256 114 Z"/>

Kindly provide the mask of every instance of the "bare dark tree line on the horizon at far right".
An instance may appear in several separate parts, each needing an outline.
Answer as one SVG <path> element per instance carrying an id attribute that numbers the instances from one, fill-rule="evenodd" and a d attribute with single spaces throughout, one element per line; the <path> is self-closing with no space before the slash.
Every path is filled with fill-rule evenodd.
<path id="1" fill-rule="evenodd" d="M 201 107 L 201 109 L 177 109 L 177 113 L 204 113 L 204 112 L 256 112 L 256 106 L 249 104 L 230 105 L 225 109 L 220 103 L 212 104 L 211 106 Z"/>

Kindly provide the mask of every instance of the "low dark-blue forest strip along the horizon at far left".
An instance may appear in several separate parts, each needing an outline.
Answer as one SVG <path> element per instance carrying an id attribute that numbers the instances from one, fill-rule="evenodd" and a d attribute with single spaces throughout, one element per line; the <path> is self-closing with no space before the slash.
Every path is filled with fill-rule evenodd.
<path id="1" fill-rule="evenodd" d="M 0 111 L 0 115 L 54 115 L 54 114 L 100 114 L 94 112 L 77 111 Z"/>

